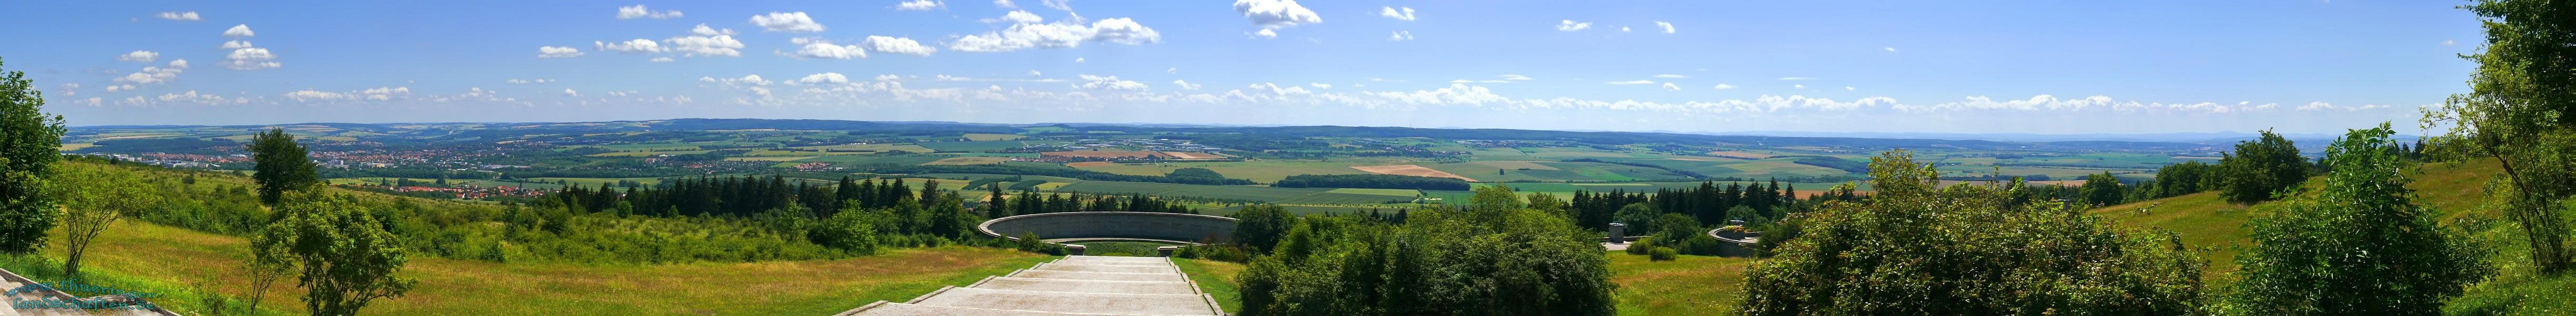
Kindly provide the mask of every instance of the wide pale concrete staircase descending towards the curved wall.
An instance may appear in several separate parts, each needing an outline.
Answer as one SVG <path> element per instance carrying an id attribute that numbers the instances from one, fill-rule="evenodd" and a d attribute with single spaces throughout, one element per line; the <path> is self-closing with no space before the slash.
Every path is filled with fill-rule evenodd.
<path id="1" fill-rule="evenodd" d="M 1064 257 L 835 316 L 1224 316 L 1167 257 Z"/>

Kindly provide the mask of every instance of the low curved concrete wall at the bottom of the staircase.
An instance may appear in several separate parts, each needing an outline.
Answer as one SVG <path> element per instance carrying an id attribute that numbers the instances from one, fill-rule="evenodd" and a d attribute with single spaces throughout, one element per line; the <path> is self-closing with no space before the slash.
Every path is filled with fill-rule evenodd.
<path id="1" fill-rule="evenodd" d="M 1038 239 L 1159 239 L 1159 241 L 1231 241 L 1234 218 L 1198 213 L 1141 213 L 1141 211 L 1074 211 L 1028 213 L 992 218 L 976 226 L 984 236 L 1018 239 L 1023 231 Z"/>

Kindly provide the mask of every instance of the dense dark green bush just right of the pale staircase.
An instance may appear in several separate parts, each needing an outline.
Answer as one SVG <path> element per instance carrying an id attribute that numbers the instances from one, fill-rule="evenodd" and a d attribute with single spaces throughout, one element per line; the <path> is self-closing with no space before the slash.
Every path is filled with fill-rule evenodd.
<path id="1" fill-rule="evenodd" d="M 1468 208 L 1417 208 L 1404 224 L 1309 216 L 1236 283 L 1244 316 L 1607 316 L 1597 234 L 1476 188 Z"/>

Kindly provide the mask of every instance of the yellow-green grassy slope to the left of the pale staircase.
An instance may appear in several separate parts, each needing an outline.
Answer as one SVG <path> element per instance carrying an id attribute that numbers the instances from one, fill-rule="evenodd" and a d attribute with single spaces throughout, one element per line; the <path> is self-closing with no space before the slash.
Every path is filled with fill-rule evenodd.
<path id="1" fill-rule="evenodd" d="M 124 224 L 93 244 L 85 270 L 165 280 L 144 288 L 185 288 L 204 280 L 219 293 L 247 295 L 250 280 L 240 275 L 245 247 L 240 236 Z M 1046 257 L 976 247 L 894 249 L 814 262 L 616 267 L 412 257 L 404 277 L 420 280 L 420 288 L 404 298 L 376 301 L 368 313 L 837 313 L 871 301 L 904 301 L 940 285 L 969 285 L 1041 259 Z M 299 295 L 299 290 L 270 290 L 263 306 L 296 313 Z M 175 301 L 165 306 L 193 308 Z"/>

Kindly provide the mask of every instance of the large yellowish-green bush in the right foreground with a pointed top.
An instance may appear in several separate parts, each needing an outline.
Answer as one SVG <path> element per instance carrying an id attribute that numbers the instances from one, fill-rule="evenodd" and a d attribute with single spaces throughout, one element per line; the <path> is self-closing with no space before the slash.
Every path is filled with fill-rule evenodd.
<path id="1" fill-rule="evenodd" d="M 2192 313 L 2200 262 L 2169 231 L 1989 185 L 1937 188 L 1909 152 L 1870 164 L 1868 203 L 1806 213 L 1747 270 L 1741 313 Z"/>

